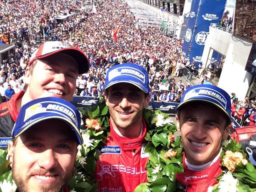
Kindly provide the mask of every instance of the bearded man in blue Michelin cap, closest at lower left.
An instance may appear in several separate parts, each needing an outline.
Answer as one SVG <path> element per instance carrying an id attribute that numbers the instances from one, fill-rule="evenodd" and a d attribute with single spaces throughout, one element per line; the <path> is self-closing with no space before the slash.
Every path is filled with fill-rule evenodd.
<path id="1" fill-rule="evenodd" d="M 80 114 L 66 100 L 47 97 L 20 109 L 8 144 L 19 192 L 68 192 L 77 146 L 83 143 Z"/>

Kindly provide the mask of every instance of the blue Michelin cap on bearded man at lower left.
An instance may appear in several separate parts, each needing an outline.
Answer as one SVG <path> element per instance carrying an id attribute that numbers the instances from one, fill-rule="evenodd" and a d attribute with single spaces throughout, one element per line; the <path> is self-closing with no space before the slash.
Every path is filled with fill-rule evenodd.
<path id="1" fill-rule="evenodd" d="M 12 129 L 12 138 L 20 136 L 28 128 L 48 119 L 60 119 L 66 122 L 74 131 L 78 143 L 80 145 L 83 143 L 78 109 L 70 102 L 56 97 L 36 99 L 22 106 Z"/>

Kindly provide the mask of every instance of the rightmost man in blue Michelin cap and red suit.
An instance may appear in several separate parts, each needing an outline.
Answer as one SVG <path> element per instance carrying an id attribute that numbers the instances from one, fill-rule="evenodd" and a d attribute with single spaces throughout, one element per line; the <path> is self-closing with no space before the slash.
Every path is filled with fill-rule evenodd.
<path id="1" fill-rule="evenodd" d="M 177 129 L 184 146 L 184 173 L 176 179 L 186 192 L 207 192 L 217 184 L 221 142 L 232 127 L 230 96 L 213 85 L 196 85 L 186 90 L 176 108 Z"/>

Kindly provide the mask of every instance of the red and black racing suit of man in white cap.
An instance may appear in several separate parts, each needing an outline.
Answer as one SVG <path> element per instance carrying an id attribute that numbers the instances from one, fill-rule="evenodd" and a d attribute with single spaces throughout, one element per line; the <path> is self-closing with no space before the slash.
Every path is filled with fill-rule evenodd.
<path id="1" fill-rule="evenodd" d="M 22 98 L 24 92 L 14 94 L 11 100 L 0 104 L 0 148 L 6 149 L 12 139 L 12 128 L 18 118 L 17 100 Z"/>

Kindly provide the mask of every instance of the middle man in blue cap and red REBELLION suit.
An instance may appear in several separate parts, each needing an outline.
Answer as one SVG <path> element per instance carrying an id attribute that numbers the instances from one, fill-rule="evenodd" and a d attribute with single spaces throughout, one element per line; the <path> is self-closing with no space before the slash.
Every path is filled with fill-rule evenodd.
<path id="1" fill-rule="evenodd" d="M 110 113 L 110 136 L 96 164 L 98 191 L 132 192 L 147 182 L 148 154 L 144 153 L 149 79 L 146 69 L 126 63 L 108 70 L 104 86 Z"/>

